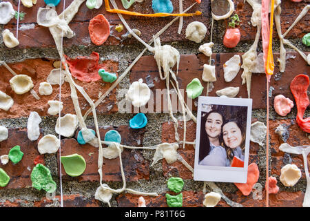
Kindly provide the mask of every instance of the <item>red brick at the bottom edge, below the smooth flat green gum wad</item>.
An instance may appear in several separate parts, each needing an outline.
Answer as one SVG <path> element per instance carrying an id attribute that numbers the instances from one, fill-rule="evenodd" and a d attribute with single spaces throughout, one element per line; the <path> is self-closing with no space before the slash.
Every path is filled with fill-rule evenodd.
<path id="1" fill-rule="evenodd" d="M 56 195 L 57 201 L 61 202 L 61 196 Z M 34 207 L 45 207 L 53 204 L 53 200 L 48 198 L 42 198 L 40 201 L 34 202 Z M 94 198 L 84 198 L 83 195 L 73 194 L 73 195 L 63 195 L 63 207 L 101 207 L 99 200 Z"/>

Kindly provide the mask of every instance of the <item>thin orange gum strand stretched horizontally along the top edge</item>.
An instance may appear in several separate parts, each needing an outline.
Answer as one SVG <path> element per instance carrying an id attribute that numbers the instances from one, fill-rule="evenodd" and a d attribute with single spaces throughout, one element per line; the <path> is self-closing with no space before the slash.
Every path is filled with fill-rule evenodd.
<path id="1" fill-rule="evenodd" d="M 121 9 L 111 9 L 109 5 L 109 0 L 105 0 L 105 10 L 111 13 L 120 13 L 123 15 L 135 15 L 135 16 L 143 16 L 143 17 L 167 17 L 167 16 L 189 17 L 189 16 L 195 16 L 195 15 L 201 15 L 200 11 L 196 11 L 195 13 L 181 13 L 181 14 L 171 14 L 171 13 L 142 14 L 138 12 L 130 12 L 130 11 L 121 10 Z"/>

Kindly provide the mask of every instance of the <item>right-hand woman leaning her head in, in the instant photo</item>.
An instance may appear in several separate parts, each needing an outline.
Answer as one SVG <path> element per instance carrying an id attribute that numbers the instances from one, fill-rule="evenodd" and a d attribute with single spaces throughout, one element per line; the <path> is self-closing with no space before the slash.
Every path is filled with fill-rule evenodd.
<path id="1" fill-rule="evenodd" d="M 226 166 L 231 166 L 234 157 L 245 161 L 245 130 L 237 119 L 229 119 L 223 124 L 223 140 L 227 153 Z"/>

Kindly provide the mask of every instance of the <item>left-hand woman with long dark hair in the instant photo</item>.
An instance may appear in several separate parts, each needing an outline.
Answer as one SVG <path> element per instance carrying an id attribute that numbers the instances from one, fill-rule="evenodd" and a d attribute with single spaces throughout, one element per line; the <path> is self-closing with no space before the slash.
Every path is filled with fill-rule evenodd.
<path id="1" fill-rule="evenodd" d="M 202 117 L 200 128 L 199 163 L 205 166 L 226 166 L 226 151 L 220 144 L 222 139 L 222 125 L 225 122 L 220 111 L 210 111 Z"/>

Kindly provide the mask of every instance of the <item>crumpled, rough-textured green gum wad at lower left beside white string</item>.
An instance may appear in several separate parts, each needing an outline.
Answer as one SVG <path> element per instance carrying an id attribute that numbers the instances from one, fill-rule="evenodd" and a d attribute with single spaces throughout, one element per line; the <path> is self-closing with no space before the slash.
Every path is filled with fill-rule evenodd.
<path id="1" fill-rule="evenodd" d="M 37 164 L 30 175 L 32 187 L 41 191 L 45 190 L 48 193 L 53 193 L 56 190 L 56 183 L 52 179 L 50 170 L 43 164 Z"/>

